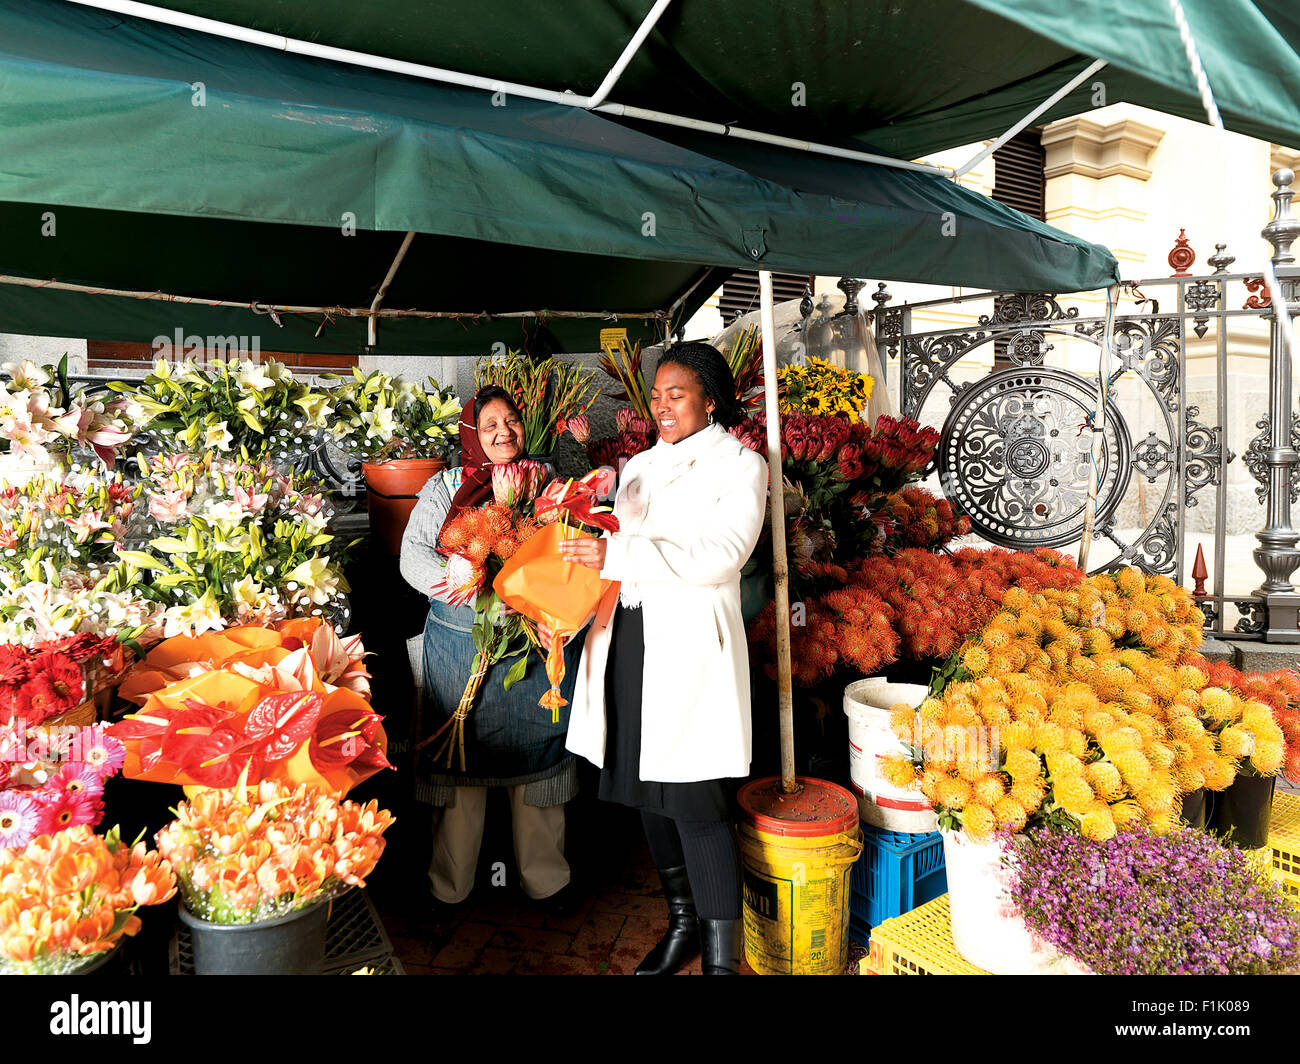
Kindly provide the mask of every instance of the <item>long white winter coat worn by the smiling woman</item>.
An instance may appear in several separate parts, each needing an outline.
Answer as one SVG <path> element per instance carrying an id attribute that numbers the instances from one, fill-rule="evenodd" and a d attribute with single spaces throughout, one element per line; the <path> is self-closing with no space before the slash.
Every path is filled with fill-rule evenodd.
<path id="1" fill-rule="evenodd" d="M 763 525 L 767 463 L 718 425 L 659 441 L 623 470 L 601 575 L 645 610 L 641 779 L 749 774 L 749 652 L 740 571 Z M 592 626 L 568 748 L 604 761 L 604 665 L 612 626 Z"/>

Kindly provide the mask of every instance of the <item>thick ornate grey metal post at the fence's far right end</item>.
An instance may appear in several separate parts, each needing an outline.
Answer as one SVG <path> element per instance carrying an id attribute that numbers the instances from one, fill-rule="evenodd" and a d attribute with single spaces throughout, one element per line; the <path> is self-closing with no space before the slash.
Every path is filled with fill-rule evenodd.
<path id="1" fill-rule="evenodd" d="M 1264 570 L 1264 584 L 1256 592 L 1264 598 L 1268 614 L 1264 637 L 1269 643 L 1300 643 L 1300 591 L 1291 583 L 1291 574 L 1300 566 L 1300 533 L 1291 525 L 1291 480 L 1300 463 L 1291 424 L 1291 366 L 1296 355 L 1291 350 L 1295 332 L 1291 319 L 1300 312 L 1296 290 L 1300 286 L 1300 267 L 1291 245 L 1300 237 L 1300 219 L 1291 213 L 1291 182 L 1295 173 L 1280 169 L 1273 174 L 1277 204 L 1273 221 L 1264 226 L 1264 238 L 1273 245 L 1273 267 L 1280 291 L 1273 295 L 1269 313 L 1269 447 L 1264 462 L 1269 471 L 1268 514 L 1262 532 L 1256 533 L 1260 545 L 1254 549 L 1256 565 Z M 1282 317 L 1280 315 L 1286 315 Z"/>

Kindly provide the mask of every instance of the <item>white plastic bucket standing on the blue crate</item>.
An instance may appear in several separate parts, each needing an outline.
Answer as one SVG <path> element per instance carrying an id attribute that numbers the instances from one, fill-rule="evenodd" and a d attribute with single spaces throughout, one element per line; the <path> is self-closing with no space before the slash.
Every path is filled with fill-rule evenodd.
<path id="1" fill-rule="evenodd" d="M 883 676 L 854 680 L 844 688 L 849 718 L 849 778 L 858 795 L 863 823 L 885 831 L 933 831 L 939 823 L 930 799 L 915 788 L 894 787 L 880 775 L 880 761 L 909 753 L 889 727 L 889 710 L 900 702 L 920 705 L 928 688 L 890 683 Z"/>

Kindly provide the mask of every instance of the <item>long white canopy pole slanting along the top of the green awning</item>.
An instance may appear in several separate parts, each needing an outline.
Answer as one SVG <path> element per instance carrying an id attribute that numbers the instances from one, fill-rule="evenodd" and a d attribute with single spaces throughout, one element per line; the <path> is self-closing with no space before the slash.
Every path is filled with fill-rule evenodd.
<path id="1" fill-rule="evenodd" d="M 870 163 L 875 166 L 893 166 L 898 170 L 914 170 L 916 173 L 935 174 L 936 177 L 953 177 L 952 166 L 936 166 L 931 163 L 911 163 L 906 159 L 892 159 L 888 155 L 876 155 L 868 151 L 855 151 L 853 148 L 840 148 L 833 144 L 820 144 L 814 140 L 798 140 L 793 137 L 777 137 L 772 133 L 760 133 L 741 126 L 728 126 L 722 122 L 706 122 L 699 118 L 688 118 L 682 114 L 670 114 L 666 111 L 650 111 L 644 107 L 625 107 L 623 104 L 592 103 L 592 96 L 580 96 L 576 92 L 556 92 L 551 88 L 537 88 L 519 82 L 500 81 L 499 78 L 481 78 L 476 74 L 463 74 L 458 70 L 446 70 L 441 66 L 428 66 L 422 62 L 407 62 L 404 60 L 374 56 L 368 52 L 356 52 L 351 48 L 334 48 L 329 44 L 316 44 L 311 40 L 299 40 L 282 34 L 268 34 L 263 30 L 250 30 L 246 26 L 237 26 L 233 22 L 218 22 L 214 18 L 202 18 L 185 12 L 176 12 L 169 8 L 160 8 L 153 4 L 142 4 L 136 0 L 69 0 L 72 4 L 81 4 L 83 8 L 98 8 L 100 10 L 125 14 L 133 18 L 147 18 L 151 22 L 161 22 L 182 30 L 195 30 L 203 34 L 224 36 L 229 40 L 240 40 L 246 44 L 257 44 L 263 48 L 273 48 L 278 52 L 292 52 L 300 56 L 313 56 L 315 59 L 329 60 L 330 62 L 347 62 L 352 66 L 364 66 L 370 70 L 387 70 L 393 74 L 404 74 L 411 78 L 424 78 L 425 81 L 443 82 L 446 85 L 459 85 L 465 88 L 478 88 L 484 92 L 504 92 L 507 96 L 521 96 L 525 100 L 541 100 L 542 103 L 560 104 L 562 107 L 578 107 L 595 111 L 601 114 L 612 114 L 618 118 L 636 118 L 642 122 L 656 122 L 679 129 L 692 129 L 699 133 L 712 133 L 718 137 L 734 137 L 738 140 L 755 140 L 760 144 L 774 144 L 776 147 L 805 151 L 811 155 L 829 155 L 836 159 L 852 159 L 857 163 Z M 612 73 L 612 72 L 611 72 Z M 599 91 L 599 90 L 597 90 Z"/>

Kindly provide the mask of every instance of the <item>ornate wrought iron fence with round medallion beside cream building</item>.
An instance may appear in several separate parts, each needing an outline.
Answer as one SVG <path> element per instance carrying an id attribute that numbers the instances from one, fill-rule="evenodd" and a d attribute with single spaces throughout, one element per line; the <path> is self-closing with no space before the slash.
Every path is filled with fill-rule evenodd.
<path id="1" fill-rule="evenodd" d="M 1275 178 L 1277 216 L 1264 235 L 1294 316 L 1300 271 L 1290 243 L 1300 222 L 1290 178 Z M 1217 246 L 1205 276 L 1126 282 L 1110 352 L 1105 293 L 983 291 L 892 306 L 880 284 L 875 337 L 901 411 L 941 431 L 942 492 L 979 537 L 1004 546 L 1079 541 L 1105 373 L 1093 571 L 1136 565 L 1195 585 L 1216 636 L 1300 641 L 1294 363 L 1262 278 L 1230 272 L 1225 251 Z M 970 324 L 924 328 L 954 316 Z M 1252 362 L 1266 367 L 1256 377 L 1240 369 Z M 1242 468 L 1253 484 L 1235 475 Z M 1253 565 L 1243 558 L 1247 532 Z M 1101 541 L 1109 553 L 1097 553 Z M 1204 571 L 1202 550 L 1212 558 Z"/>

